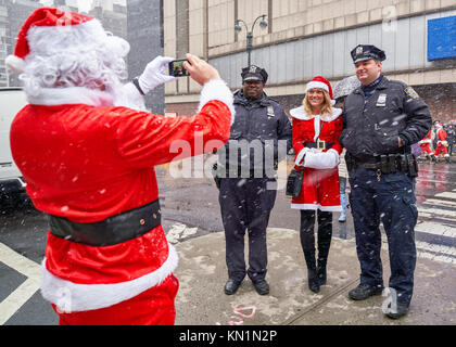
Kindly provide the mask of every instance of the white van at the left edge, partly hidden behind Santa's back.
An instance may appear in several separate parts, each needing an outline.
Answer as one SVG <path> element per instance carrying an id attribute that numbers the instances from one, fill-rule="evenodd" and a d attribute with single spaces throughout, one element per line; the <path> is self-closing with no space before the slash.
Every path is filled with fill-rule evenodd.
<path id="1" fill-rule="evenodd" d="M 26 104 L 21 88 L 0 88 L 0 201 L 25 193 L 25 181 L 11 155 L 10 127 Z"/>

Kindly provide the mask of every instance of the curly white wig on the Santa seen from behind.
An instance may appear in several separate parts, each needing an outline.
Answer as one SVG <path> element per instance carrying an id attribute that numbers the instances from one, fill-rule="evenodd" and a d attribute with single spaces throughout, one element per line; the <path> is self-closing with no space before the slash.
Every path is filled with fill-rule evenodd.
<path id="1" fill-rule="evenodd" d="M 97 20 L 77 26 L 31 27 L 27 40 L 30 52 L 20 79 L 28 97 L 49 88 L 114 92 L 127 78 L 128 42 L 104 31 Z"/>

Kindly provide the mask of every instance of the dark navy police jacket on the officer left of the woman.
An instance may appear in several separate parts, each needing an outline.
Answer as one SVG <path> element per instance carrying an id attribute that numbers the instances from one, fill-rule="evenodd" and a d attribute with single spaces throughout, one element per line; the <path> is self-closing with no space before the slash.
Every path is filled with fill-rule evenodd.
<path id="1" fill-rule="evenodd" d="M 275 166 L 291 149 L 291 124 L 283 107 L 266 93 L 251 101 L 242 90 L 235 92 L 233 105 L 235 123 L 228 142 L 218 150 L 219 166 L 249 171 L 263 169 L 274 175 Z"/>

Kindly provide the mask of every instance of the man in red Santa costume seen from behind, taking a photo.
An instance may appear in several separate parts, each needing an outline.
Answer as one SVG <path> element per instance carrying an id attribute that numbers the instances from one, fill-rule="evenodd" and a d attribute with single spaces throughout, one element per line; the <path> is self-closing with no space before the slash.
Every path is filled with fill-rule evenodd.
<path id="1" fill-rule="evenodd" d="M 12 124 L 11 149 L 49 216 L 41 294 L 61 324 L 174 324 L 178 259 L 161 224 L 154 166 L 202 154 L 195 140 L 212 152 L 208 141 L 219 147 L 229 137 L 232 94 L 214 67 L 187 55 L 203 86 L 199 111 L 165 118 L 138 110 L 174 79 L 172 59 L 157 56 L 123 86 L 128 50 L 93 17 L 40 8 L 7 59 L 29 102 Z M 191 153 L 172 153 L 175 140 Z"/>

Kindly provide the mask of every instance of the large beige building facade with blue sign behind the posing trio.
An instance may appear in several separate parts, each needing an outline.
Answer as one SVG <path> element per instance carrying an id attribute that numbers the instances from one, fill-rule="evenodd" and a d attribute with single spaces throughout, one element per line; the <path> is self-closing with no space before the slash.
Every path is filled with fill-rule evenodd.
<path id="1" fill-rule="evenodd" d="M 240 88 L 241 68 L 248 64 L 246 30 L 235 31 L 235 22 L 243 20 L 251 30 L 263 14 L 268 26 L 253 29 L 252 64 L 266 68 L 265 91 L 287 110 L 301 104 L 314 76 L 334 85 L 353 75 L 350 51 L 366 43 L 385 51 L 384 75 L 414 86 L 435 119 L 456 118 L 454 0 L 166 1 L 165 54 L 183 57 L 187 49 L 216 66 L 230 88 Z M 439 36 L 430 31 L 435 25 Z M 433 42 L 435 37 L 443 39 Z M 442 49 L 449 53 L 439 56 Z M 190 78 L 168 83 L 166 111 L 192 114 L 199 90 Z"/>

